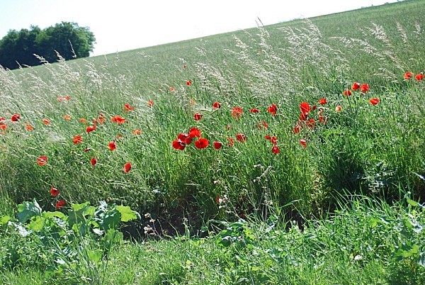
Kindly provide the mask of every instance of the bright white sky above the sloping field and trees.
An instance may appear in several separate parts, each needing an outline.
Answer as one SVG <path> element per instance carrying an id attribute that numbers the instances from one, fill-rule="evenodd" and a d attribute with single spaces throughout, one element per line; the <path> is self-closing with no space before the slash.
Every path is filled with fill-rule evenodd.
<path id="1" fill-rule="evenodd" d="M 396 0 L 0 0 L 0 38 L 69 21 L 96 37 L 92 55 L 378 6 Z"/>

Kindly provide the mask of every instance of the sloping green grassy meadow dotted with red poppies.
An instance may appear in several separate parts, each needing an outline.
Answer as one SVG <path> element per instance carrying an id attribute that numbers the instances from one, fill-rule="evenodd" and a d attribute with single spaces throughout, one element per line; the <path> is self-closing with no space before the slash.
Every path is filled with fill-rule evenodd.
<path id="1" fill-rule="evenodd" d="M 425 284 L 424 4 L 0 69 L 1 283 Z"/>

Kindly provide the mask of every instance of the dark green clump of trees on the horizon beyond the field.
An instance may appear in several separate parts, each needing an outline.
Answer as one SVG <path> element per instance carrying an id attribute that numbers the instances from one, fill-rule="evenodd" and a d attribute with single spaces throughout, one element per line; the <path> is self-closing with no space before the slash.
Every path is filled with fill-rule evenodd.
<path id="1" fill-rule="evenodd" d="M 88 57 L 95 40 L 89 28 L 71 22 L 57 23 L 43 30 L 38 26 L 30 26 L 29 30 L 9 30 L 0 40 L 0 65 L 8 69 L 40 65 L 35 55 L 48 62 L 58 60 L 58 54 L 65 60 Z"/>

